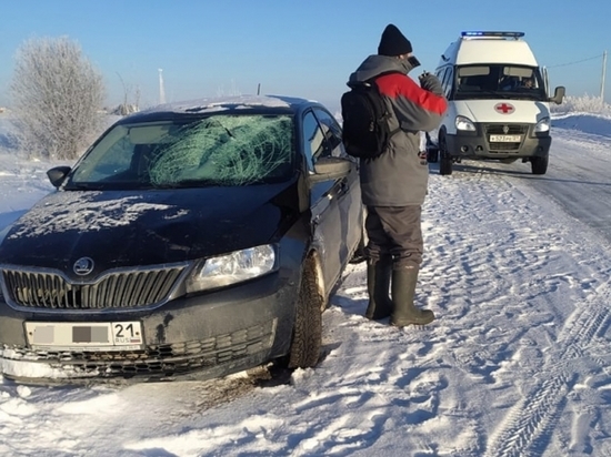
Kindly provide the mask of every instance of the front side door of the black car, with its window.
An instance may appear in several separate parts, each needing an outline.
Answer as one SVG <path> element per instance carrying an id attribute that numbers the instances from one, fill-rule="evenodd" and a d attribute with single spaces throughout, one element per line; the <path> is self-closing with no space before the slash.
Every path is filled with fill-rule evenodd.
<path id="1" fill-rule="evenodd" d="M 303 115 L 303 151 L 309 173 L 324 156 L 348 158 L 337 121 L 322 110 Z M 339 140 L 339 141 L 338 141 Z M 354 163 L 348 176 L 315 183 L 310 190 L 313 242 L 321 256 L 325 292 L 329 294 L 360 240 L 360 185 Z M 358 235 L 357 233 L 358 232 Z"/>

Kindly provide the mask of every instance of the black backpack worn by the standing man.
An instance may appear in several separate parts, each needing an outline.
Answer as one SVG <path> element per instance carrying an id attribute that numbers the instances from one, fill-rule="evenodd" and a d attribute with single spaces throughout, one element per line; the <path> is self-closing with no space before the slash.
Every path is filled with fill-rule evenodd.
<path id="1" fill-rule="evenodd" d="M 391 114 L 373 80 L 351 82 L 351 90 L 341 97 L 342 140 L 345 152 L 359 159 L 375 159 L 388 148 Z"/>

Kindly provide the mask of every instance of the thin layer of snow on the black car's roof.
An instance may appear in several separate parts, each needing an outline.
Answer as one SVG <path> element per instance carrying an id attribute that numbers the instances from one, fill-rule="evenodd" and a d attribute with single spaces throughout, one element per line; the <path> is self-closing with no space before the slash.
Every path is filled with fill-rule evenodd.
<path id="1" fill-rule="evenodd" d="M 283 95 L 234 95 L 166 103 L 141 111 L 141 113 L 201 113 L 224 110 L 246 110 L 252 108 L 294 108 L 297 105 L 311 102 L 313 101 Z"/>

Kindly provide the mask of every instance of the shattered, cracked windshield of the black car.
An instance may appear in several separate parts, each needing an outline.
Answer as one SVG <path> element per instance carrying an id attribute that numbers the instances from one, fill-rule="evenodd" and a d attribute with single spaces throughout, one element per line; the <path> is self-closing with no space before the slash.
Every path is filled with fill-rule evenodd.
<path id="1" fill-rule="evenodd" d="M 66 190 L 244 186 L 288 179 L 290 115 L 219 114 L 122 123 L 77 164 Z"/>

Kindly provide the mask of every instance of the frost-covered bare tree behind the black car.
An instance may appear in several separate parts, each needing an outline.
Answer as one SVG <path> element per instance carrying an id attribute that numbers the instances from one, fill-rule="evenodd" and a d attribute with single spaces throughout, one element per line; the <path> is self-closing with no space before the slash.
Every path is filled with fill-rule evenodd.
<path id="1" fill-rule="evenodd" d="M 102 77 L 67 37 L 26 41 L 10 90 L 19 140 L 30 155 L 77 159 L 102 128 Z"/>

